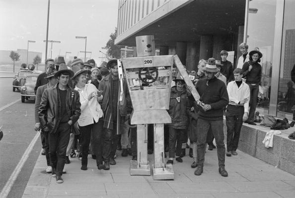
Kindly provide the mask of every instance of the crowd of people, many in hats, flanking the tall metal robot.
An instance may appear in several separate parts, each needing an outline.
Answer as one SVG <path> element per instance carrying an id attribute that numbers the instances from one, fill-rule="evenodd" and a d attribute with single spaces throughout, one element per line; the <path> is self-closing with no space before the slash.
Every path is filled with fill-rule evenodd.
<path id="1" fill-rule="evenodd" d="M 196 168 L 195 175 L 201 175 L 209 144 L 209 150 L 217 147 L 219 173 L 224 177 L 228 175 L 225 153 L 226 156 L 237 155 L 243 122 L 255 125 L 253 119 L 261 81 L 262 54 L 258 49 L 248 53 L 246 43 L 239 48 L 242 56 L 235 69 L 226 60 L 228 53 L 222 50 L 220 61 L 200 60 L 197 72 L 190 72 L 200 101 L 195 101 L 191 94 L 194 87 L 186 85 L 176 67 L 172 69 L 168 110 L 172 122 L 164 128 L 166 163 L 173 164 L 174 158 L 183 162 L 187 142 L 190 142 L 191 167 Z M 71 163 L 69 156 L 75 156 L 76 152 L 84 171 L 88 154 L 96 160 L 99 170 L 109 170 L 110 165 L 116 165 L 117 150 L 122 150 L 123 157 L 132 155 L 132 159 L 137 160 L 137 128 L 130 125 L 132 102 L 126 80 L 121 86 L 117 59 L 98 67 L 94 60 L 83 62 L 76 58 L 71 66 L 66 66 L 62 58 L 58 62 L 46 60 L 47 70 L 38 76 L 35 87 L 34 129 L 41 131 L 46 172 L 56 177 L 57 183 L 63 183 L 65 163 Z M 119 100 L 121 88 L 124 102 L 122 98 Z M 227 151 L 223 115 L 227 126 Z M 152 139 L 149 134 L 152 132 L 148 132 L 148 139 Z M 148 153 L 152 153 L 151 143 Z"/>

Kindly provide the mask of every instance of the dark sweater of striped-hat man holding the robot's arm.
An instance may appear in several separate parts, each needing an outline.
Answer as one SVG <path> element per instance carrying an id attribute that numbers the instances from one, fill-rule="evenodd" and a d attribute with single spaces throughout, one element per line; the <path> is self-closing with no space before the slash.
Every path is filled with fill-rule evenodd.
<path id="1" fill-rule="evenodd" d="M 196 84 L 196 89 L 201 96 L 200 101 L 211 105 L 211 109 L 206 112 L 203 108 L 199 108 L 199 118 L 213 121 L 222 120 L 223 109 L 228 104 L 228 94 L 225 84 L 214 76 L 210 80 L 199 80 Z"/>

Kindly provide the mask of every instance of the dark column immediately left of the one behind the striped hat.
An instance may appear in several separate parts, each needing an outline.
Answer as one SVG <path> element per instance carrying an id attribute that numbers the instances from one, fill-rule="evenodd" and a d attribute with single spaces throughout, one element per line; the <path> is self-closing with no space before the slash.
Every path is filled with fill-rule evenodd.
<path id="1" fill-rule="evenodd" d="M 186 68 L 191 70 L 197 70 L 199 63 L 200 42 L 187 43 L 186 51 Z"/>

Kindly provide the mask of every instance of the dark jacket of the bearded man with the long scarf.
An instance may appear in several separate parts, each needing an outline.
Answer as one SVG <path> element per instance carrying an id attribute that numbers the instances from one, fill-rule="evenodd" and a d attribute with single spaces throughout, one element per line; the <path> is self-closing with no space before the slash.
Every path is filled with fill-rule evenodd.
<path id="1" fill-rule="evenodd" d="M 98 90 L 102 90 L 102 95 L 103 95 L 103 99 L 102 99 L 102 104 L 101 104 L 101 109 L 103 111 L 103 115 L 104 115 L 104 128 L 106 129 L 110 129 L 110 130 L 114 130 L 113 128 L 113 118 L 114 115 L 112 115 L 112 111 L 111 111 L 111 107 L 110 107 L 110 101 L 109 101 L 109 96 L 110 96 L 110 80 L 112 80 L 112 75 L 109 74 L 107 75 L 105 78 L 103 78 L 99 85 L 98 85 Z M 120 92 L 121 92 L 121 85 L 120 85 L 120 80 L 118 80 L 118 84 L 117 86 L 119 87 L 119 93 L 118 96 L 120 96 Z M 131 98 L 130 98 L 130 94 L 129 94 L 129 90 L 128 90 L 128 86 L 126 83 L 126 79 L 123 79 L 123 88 L 124 88 L 124 94 L 125 94 L 125 105 L 121 106 L 120 102 L 119 102 L 119 97 L 118 97 L 118 106 L 117 108 L 117 134 L 120 134 L 120 124 L 124 122 L 125 116 L 127 114 L 131 114 L 132 112 L 132 103 L 131 103 Z"/>

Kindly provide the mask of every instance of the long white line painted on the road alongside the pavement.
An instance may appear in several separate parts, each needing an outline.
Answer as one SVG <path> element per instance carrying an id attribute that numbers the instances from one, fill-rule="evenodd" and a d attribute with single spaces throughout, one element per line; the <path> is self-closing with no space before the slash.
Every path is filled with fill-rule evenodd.
<path id="1" fill-rule="evenodd" d="M 24 154 L 22 155 L 20 161 L 18 162 L 17 166 L 15 167 L 15 169 L 13 170 L 12 174 L 10 175 L 8 181 L 6 182 L 5 186 L 2 189 L 2 192 L 0 194 L 0 198 L 7 198 L 15 180 L 18 177 L 18 174 L 20 173 L 24 163 L 27 161 L 29 154 L 31 153 L 38 137 L 40 135 L 40 132 L 37 132 L 37 134 L 35 135 L 35 137 L 32 139 L 30 145 L 28 146 L 28 148 L 26 149 L 26 151 L 24 152 Z"/>

